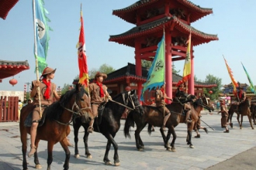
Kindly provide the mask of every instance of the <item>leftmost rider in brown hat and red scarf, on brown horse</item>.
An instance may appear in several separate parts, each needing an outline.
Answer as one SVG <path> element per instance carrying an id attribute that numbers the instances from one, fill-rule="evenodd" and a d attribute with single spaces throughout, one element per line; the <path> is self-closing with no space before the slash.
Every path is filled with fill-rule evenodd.
<path id="1" fill-rule="evenodd" d="M 56 91 L 56 84 L 52 83 L 50 80 L 54 79 L 54 73 L 56 69 L 52 69 L 50 67 L 46 67 L 43 70 L 42 80 L 33 80 L 32 82 L 32 90 L 30 92 L 30 97 L 33 98 L 33 118 L 32 118 L 32 125 L 30 128 L 30 141 L 31 141 L 31 149 L 29 151 L 29 158 L 34 155 L 36 152 L 36 131 L 38 127 L 38 123 L 41 119 L 40 117 L 40 107 L 39 104 L 41 103 L 41 115 L 43 110 L 48 107 L 50 104 L 54 102 L 54 98 L 56 100 L 60 100 L 61 97 L 57 94 Z M 37 90 L 39 87 L 39 91 Z M 40 92 L 40 93 L 39 93 Z M 40 95 L 40 100 L 39 100 Z M 67 140 L 68 145 L 71 146 L 71 143 Z"/>

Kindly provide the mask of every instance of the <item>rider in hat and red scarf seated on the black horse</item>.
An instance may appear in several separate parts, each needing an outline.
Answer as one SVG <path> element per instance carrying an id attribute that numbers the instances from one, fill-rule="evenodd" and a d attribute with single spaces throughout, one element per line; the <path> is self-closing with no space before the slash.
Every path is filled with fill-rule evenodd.
<path id="1" fill-rule="evenodd" d="M 89 84 L 89 91 L 91 95 L 91 105 L 92 105 L 92 114 L 94 117 L 98 117 L 98 108 L 99 105 L 103 102 L 107 102 L 111 99 L 107 91 L 106 85 L 102 84 L 102 81 L 107 78 L 105 73 L 97 72 L 93 83 Z M 88 132 L 92 133 L 93 131 L 94 119 L 89 122 Z"/>

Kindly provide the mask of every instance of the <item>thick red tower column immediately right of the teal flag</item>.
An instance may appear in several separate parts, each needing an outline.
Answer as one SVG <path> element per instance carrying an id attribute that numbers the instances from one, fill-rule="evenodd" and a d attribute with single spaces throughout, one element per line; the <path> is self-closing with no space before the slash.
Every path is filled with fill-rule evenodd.
<path id="1" fill-rule="evenodd" d="M 165 83 L 165 92 L 172 98 L 171 32 L 169 30 L 165 32 Z"/>

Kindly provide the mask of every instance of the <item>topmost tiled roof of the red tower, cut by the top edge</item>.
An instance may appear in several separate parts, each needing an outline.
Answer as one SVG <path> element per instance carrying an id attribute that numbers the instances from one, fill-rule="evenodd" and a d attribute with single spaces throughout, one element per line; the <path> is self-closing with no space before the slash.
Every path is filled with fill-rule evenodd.
<path id="1" fill-rule="evenodd" d="M 136 24 L 137 23 L 136 11 L 139 8 L 144 8 L 148 5 L 152 5 L 159 1 L 160 0 L 140 0 L 126 8 L 113 10 L 112 14 L 118 16 L 119 18 L 125 20 L 126 22 Z M 187 0 L 169 0 L 169 1 L 172 3 L 177 3 L 178 5 L 184 5 L 186 8 L 190 8 L 192 11 L 190 13 L 190 22 L 195 22 L 196 20 L 199 20 L 202 17 L 213 13 L 213 8 L 202 8 L 199 5 L 195 5 L 194 3 L 189 2 Z"/>

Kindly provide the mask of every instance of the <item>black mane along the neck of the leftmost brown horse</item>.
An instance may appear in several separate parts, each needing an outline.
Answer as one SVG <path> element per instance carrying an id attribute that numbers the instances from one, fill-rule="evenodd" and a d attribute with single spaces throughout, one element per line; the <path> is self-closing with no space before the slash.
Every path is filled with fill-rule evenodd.
<path id="1" fill-rule="evenodd" d="M 76 89 L 68 90 L 66 93 L 61 95 L 60 100 L 55 101 L 53 104 L 50 104 L 50 106 L 44 110 L 46 117 L 50 121 L 59 120 L 61 114 L 64 111 L 64 107 L 70 102 L 71 98 L 74 96 L 74 93 L 77 93 Z M 87 91 L 85 91 L 84 88 L 81 88 L 81 91 L 79 92 L 79 97 L 81 97 L 81 95 L 83 95 L 84 93 L 88 95 Z"/>

